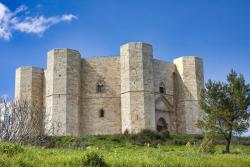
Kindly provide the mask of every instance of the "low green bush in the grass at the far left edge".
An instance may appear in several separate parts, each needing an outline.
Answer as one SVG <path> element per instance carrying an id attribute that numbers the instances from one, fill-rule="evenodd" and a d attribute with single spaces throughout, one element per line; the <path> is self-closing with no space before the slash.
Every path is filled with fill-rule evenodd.
<path id="1" fill-rule="evenodd" d="M 23 151 L 24 149 L 18 144 L 5 142 L 0 143 L 0 153 L 5 154 L 7 156 L 14 156 Z"/>

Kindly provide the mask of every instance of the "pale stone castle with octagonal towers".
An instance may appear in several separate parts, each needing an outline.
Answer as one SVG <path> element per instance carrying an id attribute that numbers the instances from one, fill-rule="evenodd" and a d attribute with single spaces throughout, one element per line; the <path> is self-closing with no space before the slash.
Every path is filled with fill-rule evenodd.
<path id="1" fill-rule="evenodd" d="M 168 63 L 153 58 L 150 44 L 133 42 L 121 46 L 117 57 L 81 58 L 75 50 L 53 49 L 46 70 L 16 70 L 15 97 L 59 122 L 57 135 L 142 129 L 195 134 L 201 132 L 196 123 L 203 87 L 201 58 Z"/>

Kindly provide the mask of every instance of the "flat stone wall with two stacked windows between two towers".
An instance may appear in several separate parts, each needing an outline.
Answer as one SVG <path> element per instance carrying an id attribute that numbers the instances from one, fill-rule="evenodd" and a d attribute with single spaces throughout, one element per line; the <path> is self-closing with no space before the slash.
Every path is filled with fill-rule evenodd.
<path id="1" fill-rule="evenodd" d="M 81 134 L 113 134 L 121 132 L 120 58 L 82 59 Z M 97 84 L 104 83 L 104 92 Z M 104 110 L 104 117 L 100 117 Z"/>

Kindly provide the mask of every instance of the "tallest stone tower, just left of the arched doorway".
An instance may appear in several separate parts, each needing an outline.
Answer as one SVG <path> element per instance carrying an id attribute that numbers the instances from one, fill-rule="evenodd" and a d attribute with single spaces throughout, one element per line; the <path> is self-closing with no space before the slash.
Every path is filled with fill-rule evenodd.
<path id="1" fill-rule="evenodd" d="M 121 46 L 122 132 L 155 130 L 153 49 L 145 43 Z"/>

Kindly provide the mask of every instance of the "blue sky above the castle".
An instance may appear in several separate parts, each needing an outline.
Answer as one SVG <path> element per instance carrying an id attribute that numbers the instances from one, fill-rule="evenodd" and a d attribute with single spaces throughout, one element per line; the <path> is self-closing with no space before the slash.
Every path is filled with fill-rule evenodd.
<path id="1" fill-rule="evenodd" d="M 0 2 L 15 18 L 4 25 L 11 35 L 0 34 L 0 95 L 13 97 L 17 67 L 46 68 L 52 48 L 107 56 L 118 55 L 120 45 L 130 41 L 152 44 L 154 56 L 162 60 L 200 56 L 206 79 L 225 80 L 233 68 L 250 82 L 249 0 Z"/>

